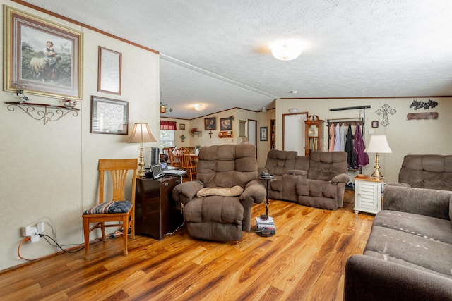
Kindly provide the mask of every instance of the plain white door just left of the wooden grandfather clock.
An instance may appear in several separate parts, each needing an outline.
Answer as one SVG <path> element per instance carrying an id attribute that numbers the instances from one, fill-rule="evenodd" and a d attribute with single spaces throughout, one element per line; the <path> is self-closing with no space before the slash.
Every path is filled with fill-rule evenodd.
<path id="1" fill-rule="evenodd" d="M 297 151 L 304 156 L 304 121 L 308 113 L 283 114 L 283 150 Z"/>

